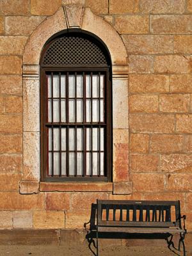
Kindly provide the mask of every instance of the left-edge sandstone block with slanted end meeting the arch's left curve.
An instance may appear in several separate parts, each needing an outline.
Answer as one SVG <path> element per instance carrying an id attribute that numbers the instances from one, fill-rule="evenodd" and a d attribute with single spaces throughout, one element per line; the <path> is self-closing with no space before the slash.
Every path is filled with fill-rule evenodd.
<path id="1" fill-rule="evenodd" d="M 0 54 L 22 55 L 27 39 L 26 36 L 0 36 Z"/>

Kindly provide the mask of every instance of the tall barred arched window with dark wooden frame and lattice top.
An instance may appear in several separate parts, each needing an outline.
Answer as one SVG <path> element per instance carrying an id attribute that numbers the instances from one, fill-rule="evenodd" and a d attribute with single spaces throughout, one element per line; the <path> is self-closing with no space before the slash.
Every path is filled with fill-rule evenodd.
<path id="1" fill-rule="evenodd" d="M 111 181 L 111 60 L 88 33 L 67 31 L 44 47 L 42 181 Z"/>

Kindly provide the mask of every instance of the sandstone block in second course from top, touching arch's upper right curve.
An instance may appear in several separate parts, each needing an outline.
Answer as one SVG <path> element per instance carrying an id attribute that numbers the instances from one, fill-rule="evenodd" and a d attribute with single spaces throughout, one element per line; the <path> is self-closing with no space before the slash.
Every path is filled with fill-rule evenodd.
<path id="1" fill-rule="evenodd" d="M 148 16 L 145 15 L 115 17 L 115 29 L 120 34 L 147 34 L 148 24 Z"/>

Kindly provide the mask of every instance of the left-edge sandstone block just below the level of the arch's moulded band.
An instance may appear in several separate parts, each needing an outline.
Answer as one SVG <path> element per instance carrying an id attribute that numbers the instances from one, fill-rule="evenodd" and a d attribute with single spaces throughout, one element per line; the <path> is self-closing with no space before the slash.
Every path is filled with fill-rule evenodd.
<path id="1" fill-rule="evenodd" d="M 22 93 L 21 76 L 0 76 L 0 93 L 16 94 Z"/>

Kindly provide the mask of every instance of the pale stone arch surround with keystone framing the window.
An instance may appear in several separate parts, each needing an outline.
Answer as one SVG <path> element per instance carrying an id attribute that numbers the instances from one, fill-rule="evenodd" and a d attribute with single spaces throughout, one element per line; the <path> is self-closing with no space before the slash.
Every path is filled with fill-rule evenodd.
<path id="1" fill-rule="evenodd" d="M 128 65 L 125 45 L 116 30 L 82 4 L 63 5 L 28 39 L 23 56 L 24 180 L 40 180 L 40 68 L 45 43 L 64 29 L 79 28 L 98 36 L 111 54 L 113 73 L 113 182 L 128 182 Z M 118 151 L 117 151 L 118 150 Z M 124 150 L 126 157 L 118 152 Z M 119 166 L 119 167 L 118 167 Z M 27 182 L 26 181 L 26 186 Z M 24 183 L 24 182 L 22 182 Z M 113 188 L 115 186 L 113 184 Z M 127 185 L 127 184 L 126 184 Z M 116 189 L 118 193 L 118 189 Z"/>

